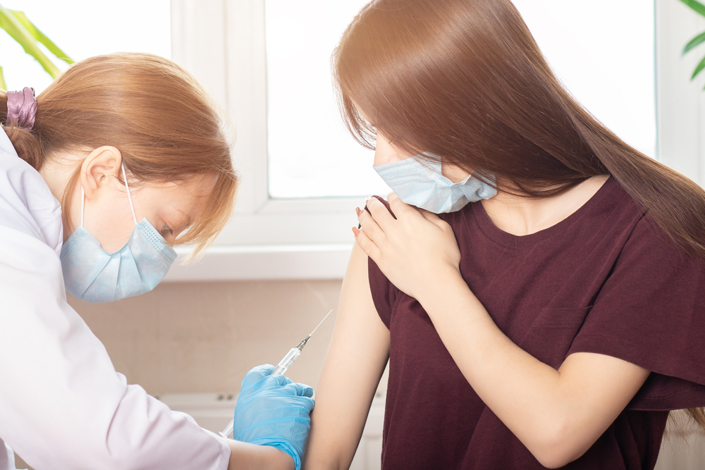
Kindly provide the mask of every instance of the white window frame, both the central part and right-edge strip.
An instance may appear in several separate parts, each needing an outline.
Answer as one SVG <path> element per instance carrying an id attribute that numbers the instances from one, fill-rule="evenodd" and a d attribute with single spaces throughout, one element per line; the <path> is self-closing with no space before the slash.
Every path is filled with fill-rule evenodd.
<path id="1" fill-rule="evenodd" d="M 235 214 L 214 246 L 196 264 L 175 264 L 166 280 L 342 278 L 361 198 L 269 197 L 264 0 L 171 0 L 171 21 L 173 59 L 235 125 L 242 179 Z M 701 185 L 705 92 L 702 82 L 687 81 L 698 53 L 680 51 L 702 30 L 705 20 L 679 1 L 656 0 L 658 158 Z"/>

